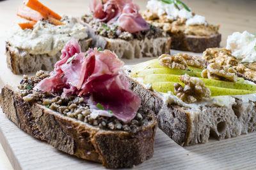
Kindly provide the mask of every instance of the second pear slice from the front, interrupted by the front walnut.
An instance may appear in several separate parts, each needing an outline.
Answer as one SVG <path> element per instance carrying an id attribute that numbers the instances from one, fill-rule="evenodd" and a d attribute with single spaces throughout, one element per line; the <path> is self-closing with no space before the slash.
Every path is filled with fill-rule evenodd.
<path id="1" fill-rule="evenodd" d="M 200 78 L 200 79 L 204 81 L 206 86 L 221 87 L 226 89 L 256 91 L 256 85 L 244 84 L 239 82 L 237 83 L 237 82 L 229 82 L 229 81 L 211 80 L 207 78 Z M 179 82 L 179 83 L 181 82 L 179 80 L 179 75 L 173 75 L 173 74 L 148 74 L 148 75 L 145 75 L 144 81 L 145 83 L 164 82 L 164 81 Z"/>

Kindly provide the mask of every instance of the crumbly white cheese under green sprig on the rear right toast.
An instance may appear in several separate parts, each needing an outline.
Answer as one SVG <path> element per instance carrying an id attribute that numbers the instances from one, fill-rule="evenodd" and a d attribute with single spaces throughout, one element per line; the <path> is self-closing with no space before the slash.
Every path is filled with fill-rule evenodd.
<path id="1" fill-rule="evenodd" d="M 193 16 L 191 11 L 186 10 L 181 4 L 177 4 L 180 8 L 177 9 L 172 4 L 163 3 L 159 0 L 150 0 L 147 3 L 147 9 L 150 11 L 154 11 L 157 13 L 157 15 L 161 16 L 166 13 L 167 18 L 176 20 L 179 18 L 186 18 L 186 25 L 206 25 L 207 22 L 205 21 L 205 17 L 201 15 L 195 15 Z"/>

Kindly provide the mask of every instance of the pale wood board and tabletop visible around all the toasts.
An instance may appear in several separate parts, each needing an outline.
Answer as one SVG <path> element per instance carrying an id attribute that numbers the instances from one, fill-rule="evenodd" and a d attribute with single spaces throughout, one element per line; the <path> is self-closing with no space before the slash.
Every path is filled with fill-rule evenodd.
<path id="1" fill-rule="evenodd" d="M 146 0 L 134 0 L 145 9 Z M 220 24 L 221 46 L 234 31 L 256 33 L 256 1 L 253 0 L 183 0 L 193 11 L 210 23 Z M 89 0 L 42 0 L 57 13 L 81 16 L 88 11 Z M 17 85 L 22 76 L 13 75 L 6 66 L 4 40 L 6 31 L 17 19 L 15 12 L 21 0 L 0 1 L 0 88 Z M 177 53 L 177 51 L 173 51 Z M 125 60 L 127 64 L 141 60 Z M 0 111 L 0 169 L 102 169 L 100 164 L 77 159 L 20 131 Z M 10 162 L 8 161 L 6 155 Z M 135 169 L 256 169 L 256 133 L 222 141 L 182 148 L 159 129 L 154 157 Z"/>

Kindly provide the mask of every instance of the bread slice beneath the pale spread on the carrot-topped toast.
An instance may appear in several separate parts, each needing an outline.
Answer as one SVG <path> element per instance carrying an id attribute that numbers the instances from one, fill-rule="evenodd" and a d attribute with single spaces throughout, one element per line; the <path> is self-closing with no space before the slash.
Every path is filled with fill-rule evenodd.
<path id="1" fill-rule="evenodd" d="M 79 41 L 82 52 L 88 50 L 91 46 L 92 39 L 82 39 Z M 6 42 L 6 60 L 8 67 L 14 74 L 26 74 L 40 69 L 52 71 L 54 64 L 60 60 L 61 51 L 56 55 L 48 54 L 33 55 L 26 50 L 22 50 Z"/>

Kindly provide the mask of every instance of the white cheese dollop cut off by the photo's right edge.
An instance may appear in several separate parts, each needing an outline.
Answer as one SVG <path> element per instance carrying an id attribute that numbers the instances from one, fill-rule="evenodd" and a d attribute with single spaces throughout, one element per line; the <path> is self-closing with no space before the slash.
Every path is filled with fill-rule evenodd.
<path id="1" fill-rule="evenodd" d="M 234 32 L 228 36 L 227 49 L 243 62 L 256 62 L 256 37 L 248 31 Z"/>

